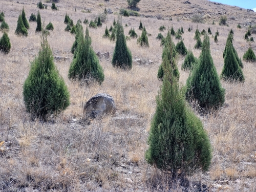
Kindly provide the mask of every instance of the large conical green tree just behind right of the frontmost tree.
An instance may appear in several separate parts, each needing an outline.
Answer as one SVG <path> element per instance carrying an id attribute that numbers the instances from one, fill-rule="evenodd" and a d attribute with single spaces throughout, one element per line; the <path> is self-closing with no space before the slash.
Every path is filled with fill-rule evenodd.
<path id="1" fill-rule="evenodd" d="M 193 67 L 186 84 L 188 101 L 196 100 L 206 111 L 223 105 L 225 90 L 221 87 L 214 61 L 210 55 L 210 40 L 207 34 L 204 35 L 198 64 Z"/>

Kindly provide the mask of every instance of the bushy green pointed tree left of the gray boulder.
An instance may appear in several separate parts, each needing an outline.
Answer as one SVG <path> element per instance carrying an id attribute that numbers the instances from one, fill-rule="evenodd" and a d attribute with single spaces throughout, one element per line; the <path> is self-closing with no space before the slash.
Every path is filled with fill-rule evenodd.
<path id="1" fill-rule="evenodd" d="M 42 31 L 41 49 L 31 62 L 29 75 L 23 85 L 26 109 L 33 117 L 47 120 L 51 114 L 65 110 L 69 104 L 69 91 L 54 65 L 52 50 Z"/>

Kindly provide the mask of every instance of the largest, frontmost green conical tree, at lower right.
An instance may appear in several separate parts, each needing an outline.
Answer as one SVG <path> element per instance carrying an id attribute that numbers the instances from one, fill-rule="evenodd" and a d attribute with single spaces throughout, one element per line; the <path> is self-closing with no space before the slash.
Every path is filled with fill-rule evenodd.
<path id="1" fill-rule="evenodd" d="M 165 75 L 156 97 L 145 159 L 173 178 L 190 175 L 195 170 L 206 171 L 212 150 L 203 123 L 187 106 L 167 55 L 162 65 Z"/>

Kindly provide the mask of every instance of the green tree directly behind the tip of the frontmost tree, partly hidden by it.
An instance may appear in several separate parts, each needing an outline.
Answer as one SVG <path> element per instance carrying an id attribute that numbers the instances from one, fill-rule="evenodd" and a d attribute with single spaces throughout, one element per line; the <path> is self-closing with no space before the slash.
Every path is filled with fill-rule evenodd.
<path id="1" fill-rule="evenodd" d="M 162 60 L 164 57 L 168 60 L 169 65 L 173 68 L 173 75 L 179 80 L 180 73 L 177 66 L 177 57 L 178 54 L 175 50 L 175 45 L 172 40 L 172 35 L 170 34 L 170 30 L 168 30 L 167 35 L 164 39 L 164 45 L 163 45 L 163 53 L 162 53 Z M 162 80 L 164 76 L 164 68 L 163 68 L 163 62 L 159 66 L 158 72 L 157 72 L 157 78 L 159 80 Z"/>

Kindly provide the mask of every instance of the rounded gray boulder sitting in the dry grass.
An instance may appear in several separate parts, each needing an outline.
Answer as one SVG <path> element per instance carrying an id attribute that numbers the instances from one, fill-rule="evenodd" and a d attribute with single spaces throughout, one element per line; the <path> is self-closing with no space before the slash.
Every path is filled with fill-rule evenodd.
<path id="1" fill-rule="evenodd" d="M 83 106 L 83 115 L 85 119 L 96 118 L 105 114 L 115 114 L 116 104 L 108 94 L 99 93 L 89 99 Z"/>

